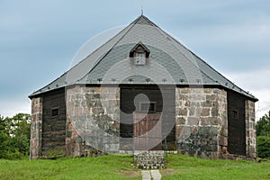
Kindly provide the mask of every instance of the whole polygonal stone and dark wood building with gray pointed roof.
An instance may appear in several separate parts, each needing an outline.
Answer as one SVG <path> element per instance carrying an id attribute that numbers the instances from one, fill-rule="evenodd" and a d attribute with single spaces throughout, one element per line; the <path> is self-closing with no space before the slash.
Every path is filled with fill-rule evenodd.
<path id="1" fill-rule="evenodd" d="M 151 149 L 257 157 L 257 98 L 144 15 L 29 97 L 31 158 Z"/>

